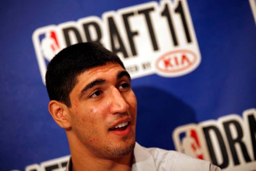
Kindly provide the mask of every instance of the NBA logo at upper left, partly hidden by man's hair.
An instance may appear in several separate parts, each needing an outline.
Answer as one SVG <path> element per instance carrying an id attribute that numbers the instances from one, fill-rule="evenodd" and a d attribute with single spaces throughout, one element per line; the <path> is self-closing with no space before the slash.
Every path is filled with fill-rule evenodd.
<path id="1" fill-rule="evenodd" d="M 60 33 L 55 25 L 38 28 L 32 35 L 36 58 L 40 69 L 42 81 L 45 84 L 45 73 L 47 64 L 51 59 L 64 48 L 61 44 Z"/>

